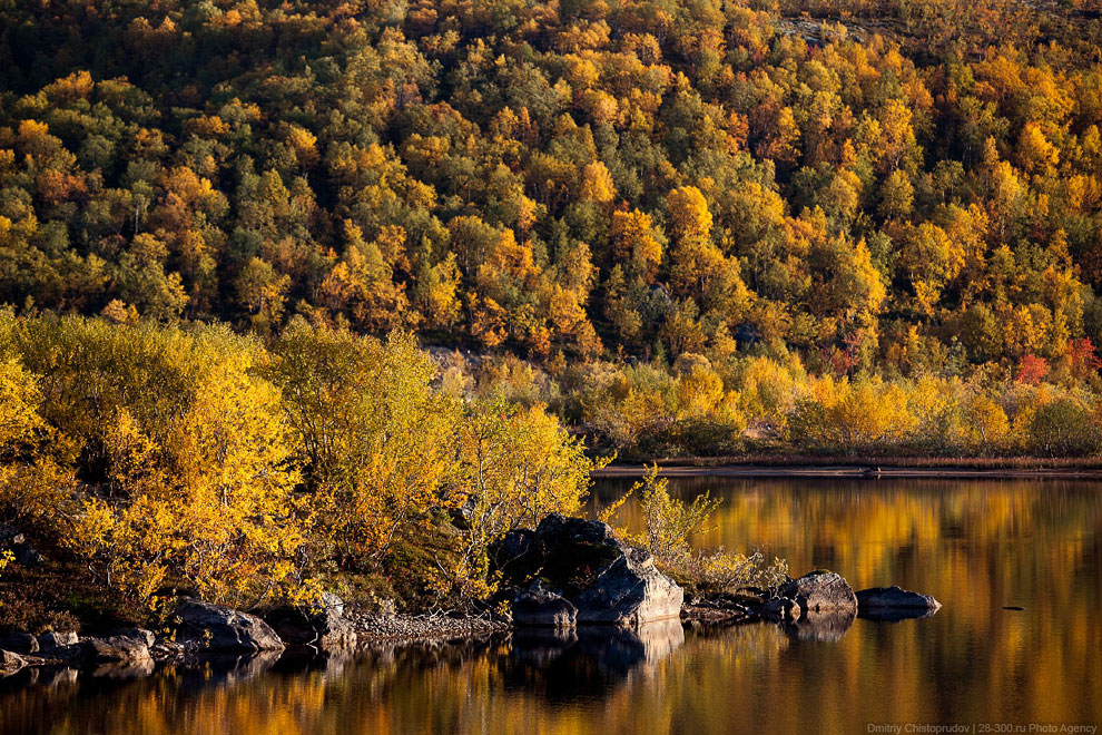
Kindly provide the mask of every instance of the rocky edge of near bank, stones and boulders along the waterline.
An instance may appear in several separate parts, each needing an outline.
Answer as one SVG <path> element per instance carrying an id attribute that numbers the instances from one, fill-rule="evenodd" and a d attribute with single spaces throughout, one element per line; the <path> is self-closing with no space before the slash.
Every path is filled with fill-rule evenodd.
<path id="1" fill-rule="evenodd" d="M 213 656 L 278 659 L 286 649 L 355 651 L 381 643 L 476 639 L 512 631 L 555 640 L 666 628 L 771 623 L 800 637 L 836 639 L 855 618 L 897 621 L 933 615 L 933 597 L 878 587 L 854 591 L 838 574 L 811 571 L 770 590 L 696 596 L 663 575 L 646 550 L 616 538 L 604 523 L 549 516 L 537 529 L 512 531 L 493 549 L 510 618 L 444 614 L 380 615 L 346 609 L 332 594 L 307 609 L 250 614 L 183 599 L 163 630 L 106 636 L 46 631 L 0 637 L 0 676 L 28 668 L 99 676 L 151 674 L 161 663 L 199 664 Z M 573 633 L 578 630 L 578 633 Z M 564 638 L 565 637 L 565 638 Z M 669 636 L 667 636 L 669 637 Z"/>

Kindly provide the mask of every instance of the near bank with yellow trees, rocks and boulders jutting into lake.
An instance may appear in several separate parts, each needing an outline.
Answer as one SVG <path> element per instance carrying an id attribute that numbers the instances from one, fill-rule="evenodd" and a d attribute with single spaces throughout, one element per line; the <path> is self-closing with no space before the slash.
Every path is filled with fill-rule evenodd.
<path id="1" fill-rule="evenodd" d="M 859 611 L 833 572 L 692 551 L 718 501 L 657 465 L 570 518 L 608 460 L 542 404 L 454 391 L 409 334 L 8 311 L 0 349 L 9 669 Z M 643 527 L 611 526 L 632 493 Z M 895 592 L 865 611 L 938 607 Z"/>

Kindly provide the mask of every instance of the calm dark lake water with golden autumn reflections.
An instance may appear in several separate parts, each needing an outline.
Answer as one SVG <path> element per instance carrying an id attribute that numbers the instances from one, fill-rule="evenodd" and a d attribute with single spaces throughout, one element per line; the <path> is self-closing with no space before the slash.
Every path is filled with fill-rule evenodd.
<path id="1" fill-rule="evenodd" d="M 628 483 L 602 482 L 592 507 Z M 1102 483 L 691 479 L 702 548 L 934 595 L 932 618 L 827 636 L 679 624 L 503 637 L 354 659 L 0 684 L 0 733 L 1046 732 L 1102 725 Z M 623 509 L 638 523 L 638 508 Z M 1005 610 L 1016 606 L 1023 610 Z M 52 680 L 51 680 L 52 679 Z M 908 724 L 912 727 L 908 729 Z M 974 727 L 974 729 L 973 729 Z M 925 731 L 933 732 L 933 731 Z M 1066 731 L 1064 731 L 1066 732 Z M 1085 731 L 1090 732 L 1090 731 Z"/>

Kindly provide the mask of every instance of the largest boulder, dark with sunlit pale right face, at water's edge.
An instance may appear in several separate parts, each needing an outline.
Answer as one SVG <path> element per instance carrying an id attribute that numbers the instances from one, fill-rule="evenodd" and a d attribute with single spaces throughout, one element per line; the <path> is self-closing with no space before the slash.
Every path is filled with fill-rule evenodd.
<path id="1" fill-rule="evenodd" d="M 600 521 L 552 513 L 534 531 L 506 535 L 491 553 L 515 587 L 518 625 L 638 626 L 681 612 L 681 588 Z"/>

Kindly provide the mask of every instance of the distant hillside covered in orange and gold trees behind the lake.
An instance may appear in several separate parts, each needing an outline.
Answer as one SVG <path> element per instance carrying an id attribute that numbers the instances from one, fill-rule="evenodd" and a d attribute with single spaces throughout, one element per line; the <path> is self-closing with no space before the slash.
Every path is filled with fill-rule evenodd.
<path id="1" fill-rule="evenodd" d="M 1034 424 L 1098 429 L 1098 11 L 6 3 L 0 301 L 410 330 L 629 453 L 1067 453 Z"/>

